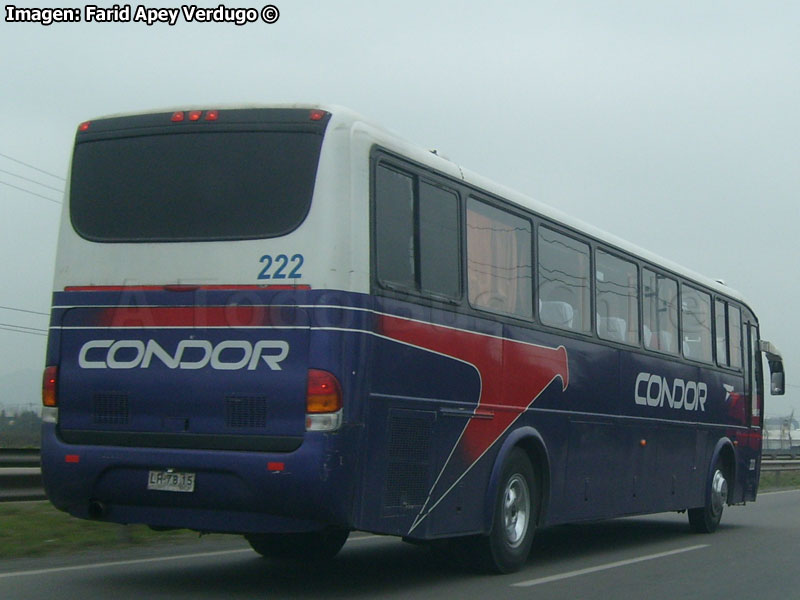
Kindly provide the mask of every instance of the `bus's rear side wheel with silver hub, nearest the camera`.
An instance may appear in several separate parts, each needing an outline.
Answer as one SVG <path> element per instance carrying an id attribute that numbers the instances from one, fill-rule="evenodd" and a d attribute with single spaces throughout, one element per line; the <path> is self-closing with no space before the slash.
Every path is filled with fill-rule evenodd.
<path id="1" fill-rule="evenodd" d="M 512 573 L 522 568 L 533 542 L 538 506 L 531 461 L 517 448 L 503 467 L 492 531 L 474 540 L 480 567 L 496 573 Z"/>

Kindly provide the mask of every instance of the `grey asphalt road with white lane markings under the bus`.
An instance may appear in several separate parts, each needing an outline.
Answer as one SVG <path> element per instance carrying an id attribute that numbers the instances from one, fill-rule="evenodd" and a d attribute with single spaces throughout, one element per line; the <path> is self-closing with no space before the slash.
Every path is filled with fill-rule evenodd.
<path id="1" fill-rule="evenodd" d="M 142 598 L 800 598 L 800 490 L 727 507 L 712 535 L 659 514 L 537 532 L 527 566 L 475 575 L 396 538 L 354 534 L 316 567 L 261 559 L 238 538 L 0 563 L 4 600 Z"/>

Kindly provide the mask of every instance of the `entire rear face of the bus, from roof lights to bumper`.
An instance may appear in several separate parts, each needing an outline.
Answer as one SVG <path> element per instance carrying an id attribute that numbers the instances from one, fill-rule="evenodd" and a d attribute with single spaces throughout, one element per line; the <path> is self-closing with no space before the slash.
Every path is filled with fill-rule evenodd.
<path id="1" fill-rule="evenodd" d="M 325 306 L 366 300 L 335 266 L 349 199 L 312 202 L 333 171 L 330 120 L 187 110 L 81 126 L 47 355 L 56 506 L 202 531 L 351 525 L 364 340 Z"/>

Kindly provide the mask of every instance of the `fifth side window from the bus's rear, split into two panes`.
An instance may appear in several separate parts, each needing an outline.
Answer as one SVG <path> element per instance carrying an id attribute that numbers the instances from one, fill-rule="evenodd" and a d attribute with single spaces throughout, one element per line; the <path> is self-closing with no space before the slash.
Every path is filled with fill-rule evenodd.
<path id="1" fill-rule="evenodd" d="M 642 293 L 644 347 L 678 354 L 678 282 L 643 269 Z"/>

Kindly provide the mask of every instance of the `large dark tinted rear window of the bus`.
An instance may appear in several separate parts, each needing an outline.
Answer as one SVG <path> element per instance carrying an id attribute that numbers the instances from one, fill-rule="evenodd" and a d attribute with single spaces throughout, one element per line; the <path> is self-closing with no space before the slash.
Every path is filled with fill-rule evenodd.
<path id="1" fill-rule="evenodd" d="M 305 219 L 322 136 L 201 132 L 85 141 L 70 216 L 100 242 L 256 239 Z"/>

